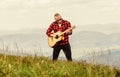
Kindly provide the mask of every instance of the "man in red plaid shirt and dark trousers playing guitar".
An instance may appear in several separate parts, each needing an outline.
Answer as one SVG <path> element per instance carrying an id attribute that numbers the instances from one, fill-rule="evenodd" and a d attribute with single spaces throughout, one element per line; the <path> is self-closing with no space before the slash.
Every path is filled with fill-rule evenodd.
<path id="1" fill-rule="evenodd" d="M 62 19 L 62 16 L 59 13 L 54 15 L 55 21 L 49 26 L 47 29 L 46 34 L 48 36 L 56 37 L 57 35 L 54 34 L 57 31 L 65 31 L 68 28 L 71 28 L 71 24 L 69 21 Z M 72 61 L 71 57 L 71 47 L 69 44 L 69 35 L 72 34 L 72 30 L 67 31 L 64 33 L 63 37 L 64 40 L 61 40 L 57 43 L 57 46 L 53 47 L 53 60 L 57 60 L 60 50 L 63 50 L 66 58 L 68 61 Z"/>

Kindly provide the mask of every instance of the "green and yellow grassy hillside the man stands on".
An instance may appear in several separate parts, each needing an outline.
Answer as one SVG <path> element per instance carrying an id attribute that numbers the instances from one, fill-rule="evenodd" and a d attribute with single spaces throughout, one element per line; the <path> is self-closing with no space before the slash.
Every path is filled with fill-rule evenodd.
<path id="1" fill-rule="evenodd" d="M 120 70 L 86 62 L 0 55 L 0 77 L 120 77 Z"/>

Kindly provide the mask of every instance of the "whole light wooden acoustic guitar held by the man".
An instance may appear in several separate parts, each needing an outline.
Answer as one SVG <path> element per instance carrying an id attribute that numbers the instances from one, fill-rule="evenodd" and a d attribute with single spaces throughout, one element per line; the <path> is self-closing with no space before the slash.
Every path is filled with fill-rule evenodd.
<path id="1" fill-rule="evenodd" d="M 56 37 L 50 36 L 48 37 L 48 45 L 53 48 L 59 41 L 64 40 L 64 33 L 75 29 L 76 26 L 72 26 L 71 28 L 66 29 L 64 32 L 58 31 L 56 33 L 54 33 L 56 35 Z"/>

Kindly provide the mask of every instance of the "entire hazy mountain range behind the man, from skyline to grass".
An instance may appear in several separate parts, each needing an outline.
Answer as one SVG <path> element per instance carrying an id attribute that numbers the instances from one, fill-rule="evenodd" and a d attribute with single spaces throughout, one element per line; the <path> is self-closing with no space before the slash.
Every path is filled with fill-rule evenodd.
<path id="1" fill-rule="evenodd" d="M 24 29 L 8 35 L 2 35 L 0 36 L 0 53 L 4 53 L 2 52 L 4 48 L 4 50 L 9 50 L 6 53 L 12 55 L 37 54 L 51 56 L 52 49 L 48 46 L 45 32 L 46 29 Z M 73 32 L 73 35 L 70 36 L 73 59 L 85 59 L 89 61 L 88 59 L 93 58 L 95 63 L 109 63 L 109 65 L 112 65 L 114 62 L 118 62 L 119 59 L 116 60 L 116 58 L 120 57 L 119 40 L 119 33 L 104 34 L 95 31 Z M 109 51 L 111 51 L 111 54 L 109 54 Z M 97 55 L 91 57 L 94 54 Z M 60 53 L 60 58 L 65 59 L 63 52 Z"/>

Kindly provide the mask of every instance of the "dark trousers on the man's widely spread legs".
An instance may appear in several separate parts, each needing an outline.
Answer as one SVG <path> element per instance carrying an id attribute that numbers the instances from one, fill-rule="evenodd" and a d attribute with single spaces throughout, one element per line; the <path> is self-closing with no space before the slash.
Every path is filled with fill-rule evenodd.
<path id="1" fill-rule="evenodd" d="M 66 58 L 68 61 L 72 61 L 72 57 L 71 57 L 71 46 L 70 44 L 67 45 L 59 45 L 53 48 L 53 60 L 57 60 L 60 51 L 63 50 Z"/>

